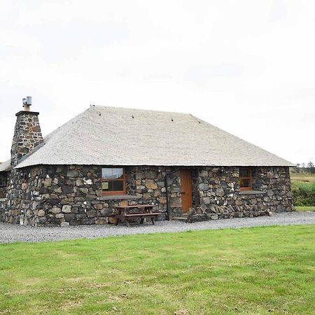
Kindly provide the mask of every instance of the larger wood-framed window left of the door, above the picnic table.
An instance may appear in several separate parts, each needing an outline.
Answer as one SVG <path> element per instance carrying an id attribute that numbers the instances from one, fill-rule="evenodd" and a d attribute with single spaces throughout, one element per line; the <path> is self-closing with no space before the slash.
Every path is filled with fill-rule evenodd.
<path id="1" fill-rule="evenodd" d="M 104 195 L 123 195 L 126 193 L 123 167 L 102 168 L 102 190 Z"/>

